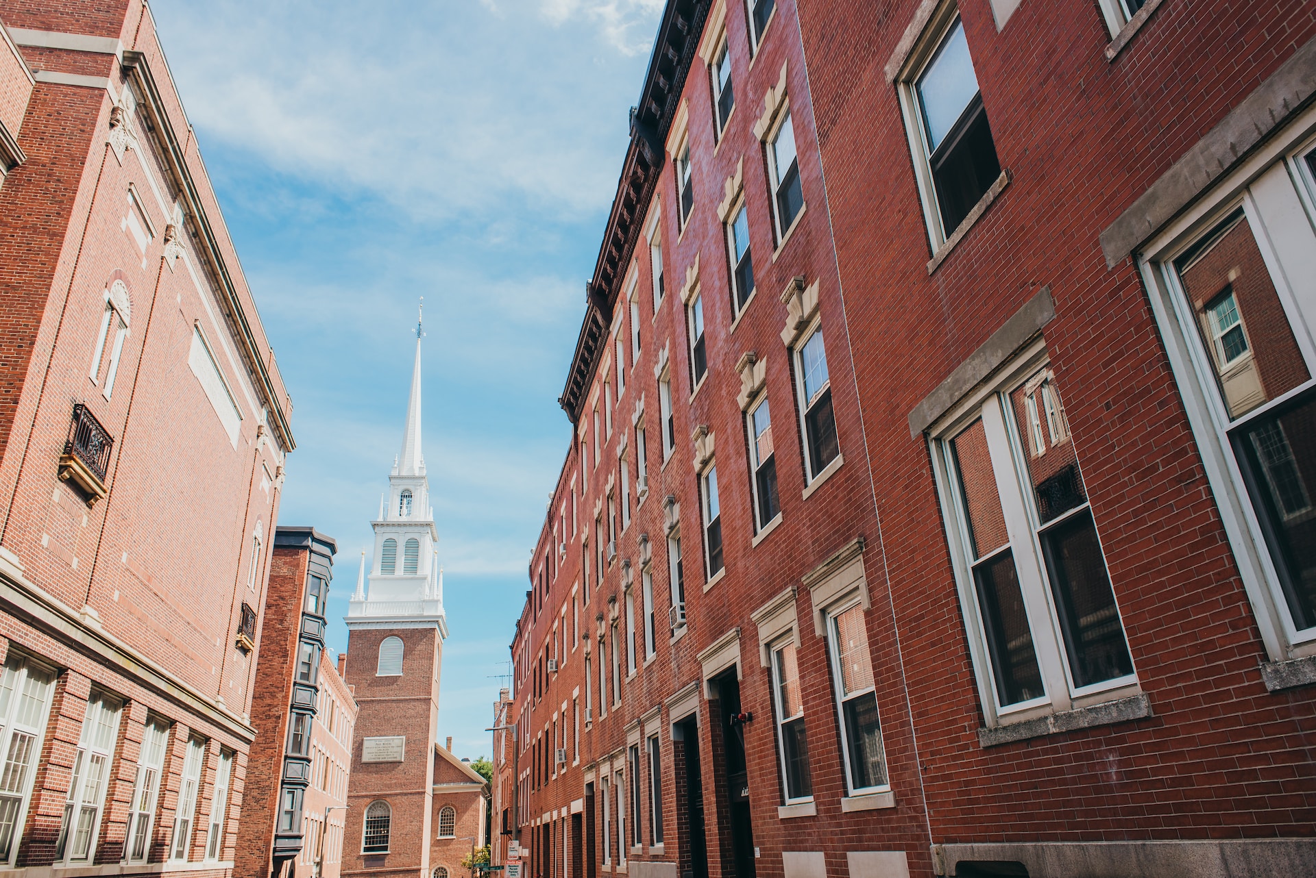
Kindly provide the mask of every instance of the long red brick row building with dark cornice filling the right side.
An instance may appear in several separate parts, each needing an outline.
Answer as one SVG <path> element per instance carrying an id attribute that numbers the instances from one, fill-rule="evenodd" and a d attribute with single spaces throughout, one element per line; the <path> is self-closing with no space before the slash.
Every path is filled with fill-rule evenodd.
<path id="1" fill-rule="evenodd" d="M 1311 3 L 667 4 L 503 856 L 1316 873 L 1313 37 Z"/>

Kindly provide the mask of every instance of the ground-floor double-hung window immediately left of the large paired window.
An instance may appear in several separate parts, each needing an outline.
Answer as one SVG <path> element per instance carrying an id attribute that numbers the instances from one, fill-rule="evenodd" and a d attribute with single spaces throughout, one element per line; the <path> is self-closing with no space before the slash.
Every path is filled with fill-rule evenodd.
<path id="1" fill-rule="evenodd" d="M 826 614 L 841 756 L 850 795 L 880 793 L 890 787 L 865 622 L 863 605 L 858 598 Z"/>

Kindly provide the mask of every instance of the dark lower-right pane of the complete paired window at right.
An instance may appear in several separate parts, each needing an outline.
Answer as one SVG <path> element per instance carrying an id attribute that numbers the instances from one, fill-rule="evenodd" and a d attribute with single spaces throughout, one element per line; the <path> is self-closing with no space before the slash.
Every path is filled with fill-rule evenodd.
<path id="1" fill-rule="evenodd" d="M 1084 510 L 1042 531 L 1041 540 L 1074 685 L 1132 674 L 1092 513 Z"/>

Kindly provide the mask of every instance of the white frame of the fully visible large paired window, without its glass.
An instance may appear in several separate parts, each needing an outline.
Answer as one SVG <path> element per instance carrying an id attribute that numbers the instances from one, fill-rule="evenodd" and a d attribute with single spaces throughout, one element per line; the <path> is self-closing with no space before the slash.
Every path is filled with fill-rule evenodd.
<path id="1" fill-rule="evenodd" d="M 946 522 L 946 535 L 950 540 L 951 564 L 959 593 L 961 611 L 969 630 L 970 657 L 978 682 L 979 702 L 988 727 L 1013 722 L 1024 722 L 1051 712 L 1087 707 L 1095 703 L 1126 698 L 1140 691 L 1137 665 L 1133 673 L 1076 686 L 1065 649 L 1065 636 L 1061 628 L 1059 612 L 1051 593 L 1050 578 L 1045 570 L 1040 531 L 1057 526 L 1066 518 L 1088 510 L 1094 517 L 1098 545 L 1101 545 L 1100 528 L 1095 522 L 1095 510 L 1084 501 L 1073 510 L 1042 524 L 1030 498 L 1028 464 L 1024 459 L 1029 438 L 1019 434 L 1009 409 L 1008 394 L 1017 389 L 1029 376 L 1046 368 L 1049 356 L 1044 339 L 1038 338 L 1005 368 L 998 372 L 990 382 L 962 400 L 941 421 L 929 428 L 932 438 L 933 472 L 941 499 L 942 515 Z M 1062 389 L 1063 393 L 1063 389 Z M 962 503 L 957 498 L 958 482 L 951 473 L 946 443 L 966 427 L 982 418 L 991 450 L 992 469 L 996 476 L 998 496 L 1009 532 L 1009 547 L 1015 557 L 1015 570 L 1023 595 L 1029 630 L 1033 637 L 1033 651 L 1041 673 L 1045 694 L 1029 701 L 1001 706 L 996 694 L 996 680 L 991 655 L 987 647 L 987 634 L 983 612 L 978 605 L 971 561 L 969 559 L 967 531 L 963 523 Z M 1082 465 L 1082 461 L 1078 461 Z M 1082 472 L 1082 469 L 1079 471 Z M 1101 547 L 1103 564 L 1105 551 Z M 1109 564 L 1105 565 L 1109 577 Z M 1112 582 L 1112 589 L 1113 589 Z M 1128 628 L 1119 607 L 1119 593 L 1115 594 L 1116 614 L 1120 628 L 1128 644 Z M 1132 645 L 1129 645 L 1133 661 Z"/>

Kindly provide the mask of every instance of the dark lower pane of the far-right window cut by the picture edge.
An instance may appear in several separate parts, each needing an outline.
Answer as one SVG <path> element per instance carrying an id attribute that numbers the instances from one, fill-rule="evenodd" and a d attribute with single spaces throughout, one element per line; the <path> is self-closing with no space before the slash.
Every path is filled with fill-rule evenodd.
<path id="1" fill-rule="evenodd" d="M 1230 436 L 1295 626 L 1316 626 L 1316 394 Z"/>

